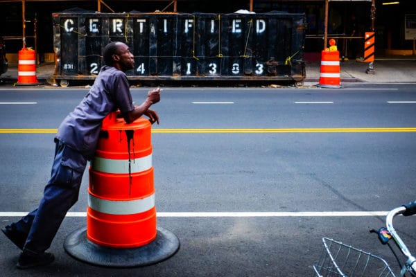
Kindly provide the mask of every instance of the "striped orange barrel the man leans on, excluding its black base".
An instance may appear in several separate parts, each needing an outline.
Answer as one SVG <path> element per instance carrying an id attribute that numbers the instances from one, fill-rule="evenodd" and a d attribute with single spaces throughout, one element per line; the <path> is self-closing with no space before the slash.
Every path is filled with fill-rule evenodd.
<path id="1" fill-rule="evenodd" d="M 122 118 L 103 126 L 89 168 L 87 237 L 107 247 L 128 248 L 156 238 L 151 124 Z"/>

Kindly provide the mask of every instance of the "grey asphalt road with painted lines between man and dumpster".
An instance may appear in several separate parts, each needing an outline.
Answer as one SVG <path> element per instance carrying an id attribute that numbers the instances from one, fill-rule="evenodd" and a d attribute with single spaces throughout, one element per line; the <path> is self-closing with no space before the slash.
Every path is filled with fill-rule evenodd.
<path id="1" fill-rule="evenodd" d="M 136 104 L 146 91 L 132 90 Z M 37 206 L 53 133 L 86 92 L 0 87 L 1 226 Z M 414 84 L 164 89 L 153 108 L 157 220 L 180 239 L 175 256 L 130 269 L 68 256 L 65 238 L 86 225 L 85 172 L 80 199 L 51 246 L 55 262 L 15 269 L 19 249 L 1 234 L 1 276 L 313 276 L 324 236 L 397 269 L 369 230 L 416 199 Z M 416 218 L 395 223 L 415 249 Z"/>

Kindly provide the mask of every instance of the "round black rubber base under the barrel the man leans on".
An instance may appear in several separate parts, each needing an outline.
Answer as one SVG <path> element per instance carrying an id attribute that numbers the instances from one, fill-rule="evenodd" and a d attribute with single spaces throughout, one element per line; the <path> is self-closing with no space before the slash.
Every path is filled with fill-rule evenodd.
<path id="1" fill-rule="evenodd" d="M 102 267 L 144 267 L 162 262 L 179 250 L 180 242 L 171 231 L 157 227 L 153 242 L 136 248 L 103 247 L 87 239 L 87 228 L 67 236 L 64 249 L 77 260 Z"/>

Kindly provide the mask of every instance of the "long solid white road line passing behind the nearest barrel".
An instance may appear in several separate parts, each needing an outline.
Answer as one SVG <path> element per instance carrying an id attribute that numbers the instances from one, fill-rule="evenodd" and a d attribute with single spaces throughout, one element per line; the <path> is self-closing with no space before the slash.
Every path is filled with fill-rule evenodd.
<path id="1" fill-rule="evenodd" d="M 27 212 L 0 212 L 0 217 L 23 217 Z M 158 212 L 157 217 L 366 217 L 385 216 L 388 211 L 344 212 Z M 67 217 L 86 217 L 85 212 L 69 212 Z"/>

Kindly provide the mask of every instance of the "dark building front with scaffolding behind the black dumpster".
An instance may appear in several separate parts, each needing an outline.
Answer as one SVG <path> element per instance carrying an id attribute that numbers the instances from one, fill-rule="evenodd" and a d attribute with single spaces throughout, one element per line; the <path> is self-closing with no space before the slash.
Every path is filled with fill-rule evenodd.
<path id="1" fill-rule="evenodd" d="M 225 3 L 226 2 L 226 3 Z M 53 53 L 53 26 L 51 15 L 69 8 L 101 12 L 203 12 L 232 13 L 236 10 L 253 12 L 281 11 L 304 13 L 307 19 L 304 53 L 313 60 L 313 53 L 324 48 L 325 19 L 327 35 L 337 41 L 341 55 L 359 59 L 364 53 L 364 33 L 375 32 L 375 55 L 415 55 L 416 8 L 414 0 L 329 0 L 328 14 L 324 0 L 91 0 L 52 1 L 0 0 L 0 35 L 5 39 L 8 54 L 22 47 L 22 10 L 24 10 L 25 43 L 40 54 L 40 62 Z M 24 3 L 24 8 L 22 4 Z M 390 3 L 390 4 L 387 4 Z M 374 4 L 374 8 L 372 8 Z M 373 10 L 373 12 L 372 12 Z M 410 35 L 409 35 L 410 34 Z"/>

